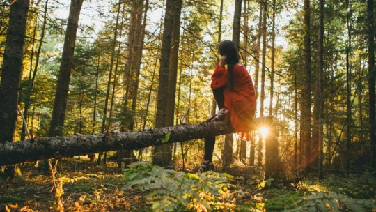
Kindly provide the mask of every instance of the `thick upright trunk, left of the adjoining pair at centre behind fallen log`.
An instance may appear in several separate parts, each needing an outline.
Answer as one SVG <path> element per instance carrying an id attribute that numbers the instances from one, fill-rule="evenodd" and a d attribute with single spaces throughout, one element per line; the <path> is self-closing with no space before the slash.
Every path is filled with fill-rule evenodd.
<path id="1" fill-rule="evenodd" d="M 159 65 L 159 85 L 157 96 L 157 114 L 155 116 L 155 127 L 161 128 L 166 124 L 166 102 L 169 83 L 169 64 L 171 56 L 171 38 L 173 31 L 173 12 L 175 0 L 166 0 L 166 13 L 164 17 L 164 29 L 162 38 L 161 63 Z M 172 150 L 167 144 L 157 146 L 153 156 L 153 165 L 170 165 L 172 160 Z"/>

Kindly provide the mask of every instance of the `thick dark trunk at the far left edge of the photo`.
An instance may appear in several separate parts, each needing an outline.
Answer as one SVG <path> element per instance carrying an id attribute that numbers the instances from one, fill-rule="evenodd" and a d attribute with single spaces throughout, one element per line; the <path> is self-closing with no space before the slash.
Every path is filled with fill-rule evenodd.
<path id="1" fill-rule="evenodd" d="M 0 82 L 0 143 L 13 142 L 15 134 L 28 11 L 28 0 L 10 6 Z"/>

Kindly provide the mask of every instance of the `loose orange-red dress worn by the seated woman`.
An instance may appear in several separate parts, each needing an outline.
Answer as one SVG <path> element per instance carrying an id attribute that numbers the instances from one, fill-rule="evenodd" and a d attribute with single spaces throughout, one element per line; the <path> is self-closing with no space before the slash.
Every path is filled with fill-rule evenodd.
<path id="1" fill-rule="evenodd" d="M 231 126 L 236 132 L 251 130 L 251 123 L 256 113 L 255 88 L 251 76 L 244 66 L 233 68 L 234 90 L 230 91 L 230 73 L 227 68 L 217 65 L 212 75 L 212 89 L 224 89 L 224 106 L 230 112 Z"/>

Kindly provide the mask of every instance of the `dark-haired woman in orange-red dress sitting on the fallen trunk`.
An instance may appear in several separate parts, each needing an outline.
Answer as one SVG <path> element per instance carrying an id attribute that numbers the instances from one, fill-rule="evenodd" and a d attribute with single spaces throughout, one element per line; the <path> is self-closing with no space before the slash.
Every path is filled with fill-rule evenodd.
<path id="1" fill-rule="evenodd" d="M 251 130 L 256 96 L 251 76 L 242 63 L 235 43 L 224 40 L 218 47 L 221 58 L 212 75 L 212 90 L 219 112 L 209 121 L 230 121 L 236 132 Z M 226 66 L 227 65 L 227 68 Z M 214 169 L 215 137 L 205 138 L 205 154 L 199 173 Z"/>

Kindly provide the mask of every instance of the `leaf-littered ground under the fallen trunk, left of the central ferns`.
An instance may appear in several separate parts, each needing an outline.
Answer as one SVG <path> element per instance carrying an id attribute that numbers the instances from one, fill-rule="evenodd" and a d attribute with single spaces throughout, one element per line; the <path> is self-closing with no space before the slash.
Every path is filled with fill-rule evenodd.
<path id="1" fill-rule="evenodd" d="M 148 211 L 142 192 L 122 190 L 116 162 L 58 160 L 56 185 L 48 168 L 27 163 L 20 166 L 22 177 L 0 179 L 0 211 Z"/>

